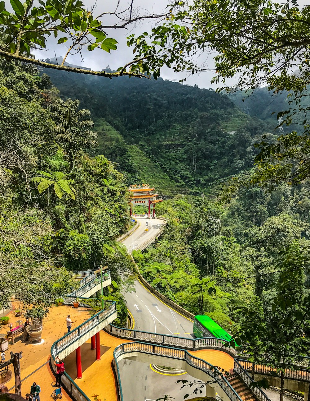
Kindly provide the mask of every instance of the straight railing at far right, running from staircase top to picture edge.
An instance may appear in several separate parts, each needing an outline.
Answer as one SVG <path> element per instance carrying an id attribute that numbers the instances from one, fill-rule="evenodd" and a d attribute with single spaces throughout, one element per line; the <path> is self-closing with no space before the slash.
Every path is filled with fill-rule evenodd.
<path id="1" fill-rule="evenodd" d="M 245 371 L 250 371 L 250 372 L 253 371 L 252 362 L 248 362 L 247 360 L 238 360 L 238 364 Z M 276 368 L 262 365 L 260 363 L 254 365 L 254 373 L 258 375 L 269 375 L 269 376 L 274 376 L 274 374 L 276 374 L 276 376 L 280 377 L 280 375 L 277 374 Z M 284 378 L 292 380 L 310 381 L 310 370 L 300 369 L 297 366 L 296 370 L 285 369 Z"/>

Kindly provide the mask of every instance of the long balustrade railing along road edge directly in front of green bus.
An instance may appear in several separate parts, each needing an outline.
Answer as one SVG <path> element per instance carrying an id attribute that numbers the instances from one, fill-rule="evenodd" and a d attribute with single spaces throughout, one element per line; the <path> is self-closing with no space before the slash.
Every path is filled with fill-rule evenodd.
<path id="1" fill-rule="evenodd" d="M 114 326 L 114 324 L 108 324 L 105 330 L 113 334 L 114 336 L 124 339 L 130 338 L 132 340 L 140 340 L 140 341 L 150 342 L 152 344 L 157 343 L 161 345 L 163 344 L 169 346 L 171 345 L 174 347 L 185 348 L 192 351 L 204 348 L 212 348 L 222 351 L 228 351 L 232 355 L 237 355 L 239 350 L 239 348 L 234 349 L 231 346 L 224 347 L 223 345 L 226 341 L 214 337 L 188 338 L 188 337 L 170 336 L 166 334 L 157 334 L 141 330 L 121 328 Z"/>

